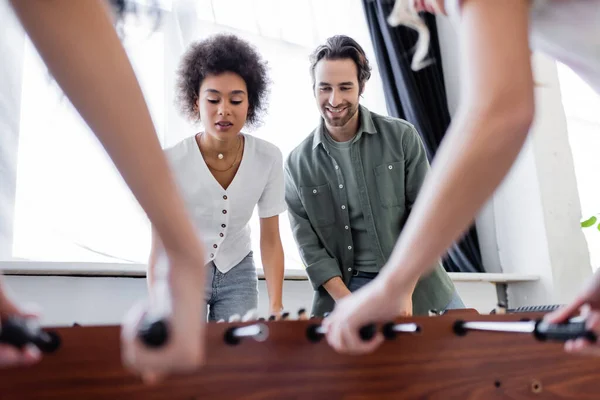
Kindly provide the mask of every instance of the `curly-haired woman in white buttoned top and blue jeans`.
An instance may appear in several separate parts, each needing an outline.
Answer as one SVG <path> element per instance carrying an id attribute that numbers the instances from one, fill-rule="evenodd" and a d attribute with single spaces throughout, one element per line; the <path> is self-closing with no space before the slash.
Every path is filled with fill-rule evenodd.
<path id="1" fill-rule="evenodd" d="M 165 152 L 206 249 L 209 320 L 258 304 L 249 221 L 258 206 L 269 312 L 282 310 L 283 160 L 273 144 L 242 132 L 257 125 L 268 91 L 266 63 L 247 42 L 216 35 L 190 46 L 178 71 L 178 105 L 203 131 Z M 151 258 L 160 246 L 153 235 Z M 150 263 L 153 265 L 153 263 Z M 153 270 L 149 270 L 153 284 Z"/>

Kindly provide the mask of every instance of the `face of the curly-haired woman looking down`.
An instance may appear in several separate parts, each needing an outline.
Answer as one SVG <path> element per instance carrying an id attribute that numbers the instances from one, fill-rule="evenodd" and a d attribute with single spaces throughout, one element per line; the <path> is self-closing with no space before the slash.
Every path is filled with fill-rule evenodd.
<path id="1" fill-rule="evenodd" d="M 232 139 L 248 116 L 248 89 L 233 72 L 207 75 L 198 92 L 198 110 L 206 133 L 220 140 Z"/>

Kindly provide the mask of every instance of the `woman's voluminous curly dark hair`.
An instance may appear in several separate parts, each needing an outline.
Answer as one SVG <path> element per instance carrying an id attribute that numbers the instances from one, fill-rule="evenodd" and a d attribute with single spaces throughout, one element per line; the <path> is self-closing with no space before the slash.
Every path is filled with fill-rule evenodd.
<path id="1" fill-rule="evenodd" d="M 196 42 L 187 50 L 177 72 L 177 104 L 191 120 L 199 121 L 197 101 L 200 85 L 207 75 L 233 72 L 248 89 L 247 124 L 256 126 L 267 107 L 270 81 L 267 62 L 245 40 L 218 34 Z"/>

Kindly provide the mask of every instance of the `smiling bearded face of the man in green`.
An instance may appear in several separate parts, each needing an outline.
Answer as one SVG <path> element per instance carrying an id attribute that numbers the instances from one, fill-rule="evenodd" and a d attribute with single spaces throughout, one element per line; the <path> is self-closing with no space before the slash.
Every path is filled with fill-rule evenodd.
<path id="1" fill-rule="evenodd" d="M 358 112 L 358 70 L 352 59 L 322 59 L 315 66 L 315 99 L 328 127 L 342 127 Z"/>

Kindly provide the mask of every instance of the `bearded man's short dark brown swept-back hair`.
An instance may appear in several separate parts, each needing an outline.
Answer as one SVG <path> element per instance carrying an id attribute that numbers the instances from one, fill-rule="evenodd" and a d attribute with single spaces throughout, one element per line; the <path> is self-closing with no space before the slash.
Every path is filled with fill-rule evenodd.
<path id="1" fill-rule="evenodd" d="M 365 83 L 371 77 L 371 66 L 363 48 L 349 36 L 336 35 L 328 38 L 325 44 L 317 47 L 310 55 L 310 76 L 313 80 L 313 90 L 315 88 L 315 68 L 322 59 L 343 60 L 351 59 L 356 64 L 358 71 L 358 86 L 362 93 Z"/>

